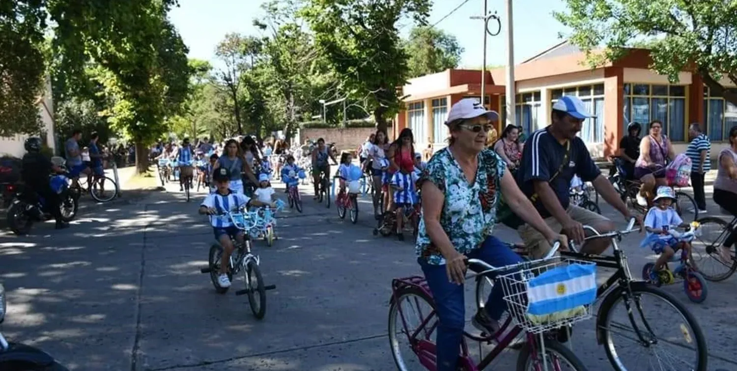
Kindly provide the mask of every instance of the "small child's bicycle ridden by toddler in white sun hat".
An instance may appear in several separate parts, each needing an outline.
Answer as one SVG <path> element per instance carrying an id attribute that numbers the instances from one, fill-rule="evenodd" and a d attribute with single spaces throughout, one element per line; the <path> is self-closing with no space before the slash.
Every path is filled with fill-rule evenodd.
<path id="1" fill-rule="evenodd" d="M 685 232 L 679 232 L 675 227 L 668 228 L 668 234 L 670 234 L 675 241 L 686 242 L 691 244 L 694 238 L 701 236 L 701 225 L 699 222 L 691 222 L 691 227 L 686 228 Z M 657 280 L 651 278 L 650 273 L 654 268 L 654 263 L 648 263 L 643 266 L 643 280 L 652 282 L 655 286 L 669 285 L 675 282 L 675 278 L 679 277 L 683 280 L 683 290 L 689 300 L 694 303 L 703 303 L 706 300 L 708 294 L 706 280 L 697 272 L 694 266 L 688 259 L 688 250 L 681 249 L 680 256 L 674 255 L 671 259 L 671 263 L 680 263 L 675 269 L 671 271 L 668 263 L 663 269 L 657 272 Z"/>

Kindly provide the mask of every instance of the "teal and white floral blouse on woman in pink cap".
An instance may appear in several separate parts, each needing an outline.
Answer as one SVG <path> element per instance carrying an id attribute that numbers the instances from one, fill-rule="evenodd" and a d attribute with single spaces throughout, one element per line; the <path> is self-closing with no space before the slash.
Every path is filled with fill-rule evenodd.
<path id="1" fill-rule="evenodd" d="M 421 181 L 433 182 L 445 194 L 440 225 L 461 254 L 481 247 L 483 240 L 492 234 L 496 223 L 497 189 L 505 171 L 504 160 L 492 149 L 484 149 L 478 154 L 476 181 L 469 184 L 450 149 L 444 148 L 430 158 L 422 172 Z M 419 222 L 415 250 L 428 264 L 445 264 L 439 248 L 427 235 L 424 219 Z"/>

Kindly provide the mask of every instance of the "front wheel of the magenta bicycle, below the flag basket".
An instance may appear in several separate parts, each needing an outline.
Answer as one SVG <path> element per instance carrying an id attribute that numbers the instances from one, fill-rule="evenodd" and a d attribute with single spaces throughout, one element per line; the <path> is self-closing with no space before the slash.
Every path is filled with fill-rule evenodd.
<path id="1" fill-rule="evenodd" d="M 537 354 L 533 356 L 530 344 L 525 342 L 520 350 L 520 355 L 517 356 L 517 371 L 587 370 L 584 364 L 581 363 L 579 357 L 563 344 L 551 339 L 546 339 L 544 344 L 545 356 L 543 356 L 542 347 L 539 346 L 539 342 L 535 344 Z M 544 364 L 547 364 L 547 368 L 543 366 Z"/>

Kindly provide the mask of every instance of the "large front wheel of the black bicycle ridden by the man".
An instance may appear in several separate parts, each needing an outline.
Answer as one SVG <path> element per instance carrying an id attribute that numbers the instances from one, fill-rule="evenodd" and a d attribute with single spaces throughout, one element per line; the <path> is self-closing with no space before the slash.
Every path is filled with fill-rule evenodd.
<path id="1" fill-rule="evenodd" d="M 706 339 L 694 315 L 657 287 L 644 282 L 630 286 L 631 294 L 622 289 L 609 293 L 599 310 L 597 331 L 614 370 L 706 371 Z M 615 311 L 620 304 L 623 308 Z"/>

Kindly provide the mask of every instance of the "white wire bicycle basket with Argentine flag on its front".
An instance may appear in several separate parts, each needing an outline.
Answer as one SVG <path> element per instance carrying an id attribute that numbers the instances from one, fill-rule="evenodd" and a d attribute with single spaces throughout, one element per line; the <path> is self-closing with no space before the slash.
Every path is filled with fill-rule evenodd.
<path id="1" fill-rule="evenodd" d="M 497 276 L 509 314 L 528 333 L 542 333 L 591 317 L 596 265 L 556 258 L 525 262 Z"/>

